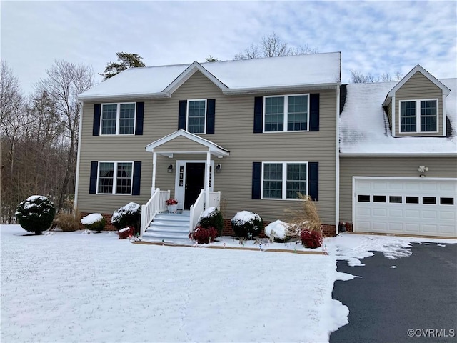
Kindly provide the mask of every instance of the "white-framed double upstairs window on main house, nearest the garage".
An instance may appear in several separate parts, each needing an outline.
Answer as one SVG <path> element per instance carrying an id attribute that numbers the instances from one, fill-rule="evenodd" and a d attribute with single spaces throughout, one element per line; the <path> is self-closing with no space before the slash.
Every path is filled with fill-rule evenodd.
<path id="1" fill-rule="evenodd" d="M 308 94 L 265 96 L 264 99 L 264 132 L 308 131 Z"/>

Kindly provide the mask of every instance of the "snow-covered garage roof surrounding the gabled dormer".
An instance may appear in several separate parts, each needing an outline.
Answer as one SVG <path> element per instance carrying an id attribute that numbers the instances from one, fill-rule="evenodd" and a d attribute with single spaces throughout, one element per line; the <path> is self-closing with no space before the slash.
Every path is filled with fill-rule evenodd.
<path id="1" fill-rule="evenodd" d="M 341 154 L 457 154 L 457 79 L 440 81 L 451 89 L 446 97 L 451 137 L 394 138 L 382 105 L 397 83 L 348 84 L 346 103 L 340 116 Z"/>

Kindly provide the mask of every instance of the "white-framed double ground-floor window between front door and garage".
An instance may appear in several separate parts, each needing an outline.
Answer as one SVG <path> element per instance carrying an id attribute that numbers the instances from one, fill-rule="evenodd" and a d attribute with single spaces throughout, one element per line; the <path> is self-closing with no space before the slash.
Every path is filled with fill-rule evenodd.
<path id="1" fill-rule="evenodd" d="M 262 199 L 298 199 L 308 194 L 307 162 L 263 162 Z"/>

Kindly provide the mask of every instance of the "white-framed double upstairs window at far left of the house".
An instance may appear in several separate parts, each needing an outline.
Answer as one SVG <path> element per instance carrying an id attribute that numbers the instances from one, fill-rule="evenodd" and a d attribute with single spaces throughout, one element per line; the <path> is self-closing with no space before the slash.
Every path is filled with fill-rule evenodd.
<path id="1" fill-rule="evenodd" d="M 134 134 L 135 103 L 102 104 L 100 134 Z"/>

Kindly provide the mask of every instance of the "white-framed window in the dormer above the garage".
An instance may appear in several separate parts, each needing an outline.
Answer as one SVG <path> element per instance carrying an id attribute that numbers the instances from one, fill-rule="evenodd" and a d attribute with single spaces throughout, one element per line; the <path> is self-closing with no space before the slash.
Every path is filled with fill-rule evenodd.
<path id="1" fill-rule="evenodd" d="M 437 132 L 438 100 L 400 101 L 400 132 Z"/>

